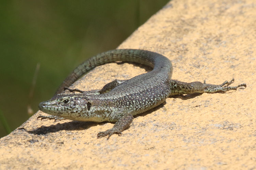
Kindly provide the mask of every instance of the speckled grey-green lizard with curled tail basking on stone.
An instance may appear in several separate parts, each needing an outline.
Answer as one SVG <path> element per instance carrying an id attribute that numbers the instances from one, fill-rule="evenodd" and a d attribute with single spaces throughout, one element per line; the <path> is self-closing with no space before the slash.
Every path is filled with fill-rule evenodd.
<path id="1" fill-rule="evenodd" d="M 114 80 L 100 90 L 83 91 L 68 88 L 72 83 L 96 66 L 117 61 L 134 62 L 152 67 L 153 70 L 128 80 Z M 89 58 L 63 81 L 55 95 L 41 102 L 39 109 L 49 116 L 37 119 L 78 120 L 112 122 L 113 128 L 99 132 L 97 137 L 114 133 L 121 135 L 138 115 L 163 103 L 169 96 L 192 93 L 217 93 L 246 88 L 246 84 L 229 86 L 234 82 L 225 81 L 220 85 L 201 82 L 181 82 L 172 80 L 170 60 L 158 53 L 138 49 L 116 49 Z M 63 93 L 64 91 L 69 93 Z"/>

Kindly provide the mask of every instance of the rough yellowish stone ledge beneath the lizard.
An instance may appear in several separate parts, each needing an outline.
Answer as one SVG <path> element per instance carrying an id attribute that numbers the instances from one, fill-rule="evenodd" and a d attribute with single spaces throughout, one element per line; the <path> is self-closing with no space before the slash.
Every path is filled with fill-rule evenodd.
<path id="1" fill-rule="evenodd" d="M 38 112 L 0 139 L 0 169 L 255 169 L 255 11 L 254 0 L 173 0 L 118 47 L 167 56 L 173 79 L 234 78 L 247 88 L 168 98 L 109 140 L 96 135 L 111 123 L 38 121 Z M 146 71 L 106 64 L 74 86 L 98 89 Z"/>

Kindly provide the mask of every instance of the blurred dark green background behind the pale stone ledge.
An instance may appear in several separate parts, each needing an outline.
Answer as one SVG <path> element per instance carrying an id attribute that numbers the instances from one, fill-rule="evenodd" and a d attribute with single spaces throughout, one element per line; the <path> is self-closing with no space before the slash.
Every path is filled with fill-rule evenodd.
<path id="1" fill-rule="evenodd" d="M 115 49 L 168 1 L 1 0 L 0 137 L 37 112 L 77 65 Z"/>

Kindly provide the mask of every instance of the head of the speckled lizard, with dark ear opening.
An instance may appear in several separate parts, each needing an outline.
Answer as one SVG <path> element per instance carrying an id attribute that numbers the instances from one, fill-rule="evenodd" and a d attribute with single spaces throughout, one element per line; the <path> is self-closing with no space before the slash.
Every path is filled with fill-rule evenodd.
<path id="1" fill-rule="evenodd" d="M 89 112 L 91 103 L 88 98 L 79 95 L 56 95 L 48 101 L 41 102 L 39 109 L 47 114 L 61 117 L 78 117 L 81 112 Z"/>

